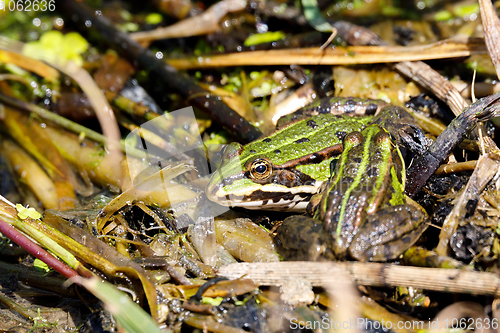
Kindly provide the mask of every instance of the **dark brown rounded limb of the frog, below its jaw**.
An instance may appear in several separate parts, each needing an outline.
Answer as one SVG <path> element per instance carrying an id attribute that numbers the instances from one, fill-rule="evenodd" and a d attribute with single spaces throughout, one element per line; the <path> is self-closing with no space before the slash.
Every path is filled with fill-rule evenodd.
<path id="1" fill-rule="evenodd" d="M 319 220 L 306 216 L 287 217 L 274 238 L 284 260 L 333 260 L 331 237 Z"/>

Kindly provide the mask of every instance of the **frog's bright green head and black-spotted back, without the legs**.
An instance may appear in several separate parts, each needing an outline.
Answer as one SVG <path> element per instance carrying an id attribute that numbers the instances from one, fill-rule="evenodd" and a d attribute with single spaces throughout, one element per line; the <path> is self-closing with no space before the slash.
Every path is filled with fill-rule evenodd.
<path id="1" fill-rule="evenodd" d="M 372 119 L 359 116 L 357 99 L 328 99 L 343 111 L 317 107 L 301 109 L 276 132 L 245 146 L 228 145 L 219 169 L 207 185 L 207 197 L 222 205 L 247 209 L 304 211 L 311 196 L 330 178 L 330 163 L 342 152 L 342 139 L 362 130 Z M 344 104 L 342 104 L 342 101 Z M 354 101 L 354 102 L 353 102 Z M 382 101 L 365 105 L 380 111 Z M 269 173 L 259 177 L 256 167 Z"/>

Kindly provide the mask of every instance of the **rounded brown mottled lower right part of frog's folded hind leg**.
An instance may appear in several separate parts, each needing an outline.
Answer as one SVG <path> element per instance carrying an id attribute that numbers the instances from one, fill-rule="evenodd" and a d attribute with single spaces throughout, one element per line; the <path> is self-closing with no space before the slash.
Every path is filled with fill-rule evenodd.
<path id="1" fill-rule="evenodd" d="M 411 205 L 390 206 L 367 217 L 351 245 L 350 255 L 360 261 L 387 261 L 399 257 L 427 229 L 426 214 Z"/>

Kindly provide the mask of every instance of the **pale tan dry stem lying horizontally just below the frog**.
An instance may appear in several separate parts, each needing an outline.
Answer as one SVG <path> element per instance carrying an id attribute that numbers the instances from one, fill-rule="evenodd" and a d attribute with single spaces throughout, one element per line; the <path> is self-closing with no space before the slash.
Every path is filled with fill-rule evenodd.
<path id="1" fill-rule="evenodd" d="M 334 279 L 338 270 L 350 274 L 359 285 L 412 286 L 450 293 L 500 296 L 500 277 L 494 273 L 380 263 L 302 261 L 235 263 L 221 267 L 217 275 L 229 279 L 244 276 L 261 285 L 281 285 L 287 279 L 298 278 L 309 281 L 313 286 L 322 286 Z"/>

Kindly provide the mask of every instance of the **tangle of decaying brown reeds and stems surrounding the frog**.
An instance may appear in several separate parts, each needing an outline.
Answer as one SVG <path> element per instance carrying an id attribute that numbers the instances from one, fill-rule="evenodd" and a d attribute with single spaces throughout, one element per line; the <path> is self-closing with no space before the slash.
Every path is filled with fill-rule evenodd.
<path id="1" fill-rule="evenodd" d="M 498 3 L 11 2 L 0 330 L 498 330 Z M 204 196 L 224 144 L 325 96 L 406 106 L 442 142 L 406 175 L 430 227 L 395 262 L 280 262 L 289 214 Z"/>

